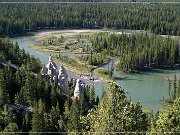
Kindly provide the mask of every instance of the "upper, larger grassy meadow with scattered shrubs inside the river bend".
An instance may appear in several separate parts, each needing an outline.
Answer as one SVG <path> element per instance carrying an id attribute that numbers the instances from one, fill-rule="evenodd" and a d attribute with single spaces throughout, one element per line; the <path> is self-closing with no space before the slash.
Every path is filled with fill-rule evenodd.
<path id="1" fill-rule="evenodd" d="M 83 48 L 87 48 L 86 44 L 89 43 L 87 41 L 87 38 L 84 37 L 84 34 L 88 34 L 88 33 L 83 33 L 83 37 L 81 36 L 81 38 L 78 38 L 79 33 L 73 33 L 71 35 L 71 33 L 68 32 L 66 33 L 57 32 L 57 33 L 48 34 L 44 37 L 38 37 L 35 40 L 38 42 L 40 46 L 42 46 L 42 47 L 37 47 L 37 49 L 39 50 L 43 49 L 43 51 L 50 50 L 50 51 L 60 51 L 60 52 L 81 53 Z M 63 39 L 61 38 L 61 36 L 63 37 Z M 59 40 L 62 40 L 62 42 Z M 36 47 L 33 48 L 36 49 Z"/>

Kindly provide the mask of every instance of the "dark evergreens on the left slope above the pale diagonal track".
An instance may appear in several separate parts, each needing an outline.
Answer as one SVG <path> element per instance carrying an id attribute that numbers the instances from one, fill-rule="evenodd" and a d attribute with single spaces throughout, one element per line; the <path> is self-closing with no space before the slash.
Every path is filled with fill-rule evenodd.
<path id="1" fill-rule="evenodd" d="M 0 38 L 0 62 L 10 62 L 34 73 L 39 73 L 41 69 L 39 59 L 32 57 L 25 50 L 20 50 L 17 43 L 13 46 L 7 38 Z"/>

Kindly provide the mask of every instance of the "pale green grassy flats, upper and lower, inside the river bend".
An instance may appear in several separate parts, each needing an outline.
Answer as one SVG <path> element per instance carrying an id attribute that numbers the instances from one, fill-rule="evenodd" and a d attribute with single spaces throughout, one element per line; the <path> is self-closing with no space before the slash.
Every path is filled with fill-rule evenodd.
<path id="1" fill-rule="evenodd" d="M 36 45 L 30 46 L 30 48 L 38 51 L 46 51 L 46 52 L 72 52 L 72 53 L 82 53 L 87 50 L 87 44 L 89 43 L 88 36 L 93 33 L 82 32 L 82 33 L 69 33 L 69 32 L 57 32 L 51 33 L 42 37 L 38 37 L 35 40 L 37 41 Z M 63 36 L 63 39 L 61 38 Z M 62 39 L 62 42 L 59 41 Z M 88 50 L 89 51 L 89 50 Z M 81 54 L 85 56 L 86 54 Z M 91 74 L 91 70 L 95 68 L 95 66 L 90 65 L 87 60 L 80 60 L 78 57 L 69 57 L 61 58 L 55 57 L 55 61 L 63 65 L 66 69 L 76 73 L 82 74 L 84 76 L 89 76 Z M 107 61 L 108 59 L 106 58 Z M 86 66 L 85 66 L 86 65 Z M 103 72 L 102 69 L 98 69 L 96 71 L 96 76 L 99 78 L 103 78 L 104 81 L 110 82 L 112 78 Z"/>

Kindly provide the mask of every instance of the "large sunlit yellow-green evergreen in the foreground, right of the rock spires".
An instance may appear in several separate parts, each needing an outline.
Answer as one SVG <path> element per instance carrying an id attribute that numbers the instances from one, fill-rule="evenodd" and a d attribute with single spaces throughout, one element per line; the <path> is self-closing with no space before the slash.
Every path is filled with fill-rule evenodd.
<path id="1" fill-rule="evenodd" d="M 103 132 L 141 132 L 148 129 L 148 118 L 139 103 L 126 100 L 124 91 L 115 83 L 109 87 L 109 98 L 102 96 L 95 111 L 82 118 L 88 131 Z"/>

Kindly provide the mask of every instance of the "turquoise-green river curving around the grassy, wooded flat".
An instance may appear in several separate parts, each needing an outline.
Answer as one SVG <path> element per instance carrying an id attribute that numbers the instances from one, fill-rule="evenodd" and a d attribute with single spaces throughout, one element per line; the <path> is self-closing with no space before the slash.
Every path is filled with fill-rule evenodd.
<path id="1" fill-rule="evenodd" d="M 49 52 L 41 52 L 32 50 L 29 46 L 36 43 L 34 40 L 34 34 L 29 33 L 24 36 L 19 36 L 11 38 L 13 43 L 18 42 L 21 49 L 29 52 L 29 54 L 39 58 L 43 64 L 48 62 Z M 60 65 L 57 64 L 59 67 Z M 70 77 L 76 79 L 82 79 L 87 84 L 92 84 L 93 82 L 87 79 L 80 78 L 70 71 L 67 71 Z M 118 79 L 115 81 L 119 84 L 124 91 L 128 99 L 131 98 L 133 102 L 140 102 L 144 107 L 150 108 L 154 112 L 162 109 L 163 106 L 160 101 L 163 98 L 168 98 L 168 82 L 167 76 L 173 77 L 175 74 L 180 76 L 180 70 L 155 70 L 153 72 L 145 72 L 141 74 L 123 74 L 117 71 L 114 72 L 114 76 Z M 108 88 L 108 84 L 104 82 L 95 82 L 96 95 L 101 95 L 102 88 L 105 90 Z"/>

